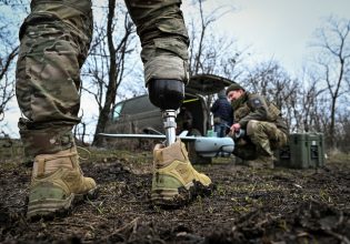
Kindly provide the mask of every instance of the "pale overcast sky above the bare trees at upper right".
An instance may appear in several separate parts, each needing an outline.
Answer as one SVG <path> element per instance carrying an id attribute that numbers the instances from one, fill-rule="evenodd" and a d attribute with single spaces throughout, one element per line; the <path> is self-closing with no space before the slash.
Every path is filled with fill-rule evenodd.
<path id="1" fill-rule="evenodd" d="M 274 58 L 291 73 L 301 68 L 322 18 L 350 19 L 350 0 L 207 0 L 204 11 L 222 6 L 232 11 L 218 20 L 216 31 L 250 45 L 258 60 Z M 184 16 L 190 11 L 186 1 L 182 9 Z"/>

